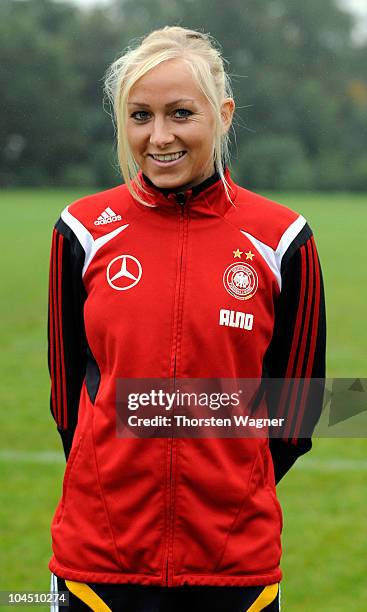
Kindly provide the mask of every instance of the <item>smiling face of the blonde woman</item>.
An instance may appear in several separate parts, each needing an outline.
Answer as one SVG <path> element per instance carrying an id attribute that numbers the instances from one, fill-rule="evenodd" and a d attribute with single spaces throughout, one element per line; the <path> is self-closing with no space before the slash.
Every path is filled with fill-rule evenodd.
<path id="1" fill-rule="evenodd" d="M 231 98 L 222 104 L 223 131 L 233 108 Z M 189 188 L 213 174 L 215 114 L 182 60 L 167 60 L 135 83 L 127 117 L 131 152 L 157 187 Z"/>

